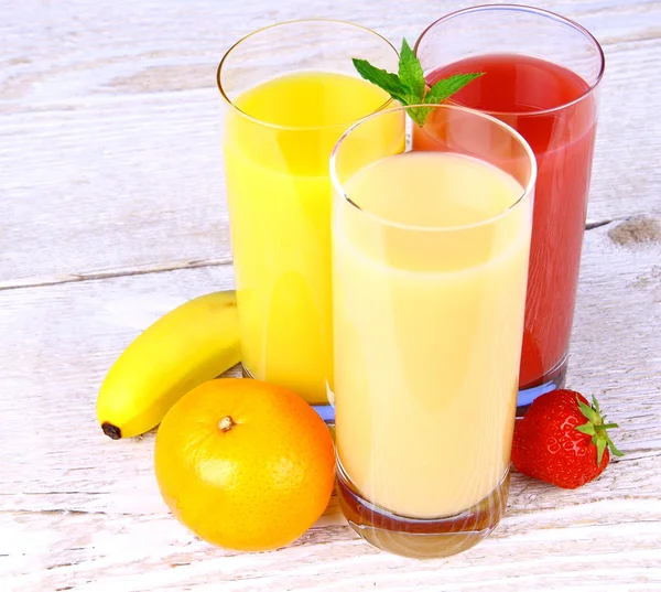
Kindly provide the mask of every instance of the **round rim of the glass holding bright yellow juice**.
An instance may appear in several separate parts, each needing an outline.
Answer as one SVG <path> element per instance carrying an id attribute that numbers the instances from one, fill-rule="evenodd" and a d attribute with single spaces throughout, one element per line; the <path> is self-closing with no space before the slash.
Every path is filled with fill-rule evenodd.
<path id="1" fill-rule="evenodd" d="M 216 85 L 218 87 L 218 90 L 220 92 L 220 96 L 223 97 L 223 99 L 225 100 L 225 103 L 231 109 L 234 109 L 237 114 L 239 114 L 240 116 L 245 117 L 246 119 L 252 121 L 253 123 L 258 123 L 258 125 L 260 125 L 262 127 L 270 128 L 270 129 L 273 129 L 273 130 L 281 130 L 281 131 L 317 131 L 317 130 L 324 130 L 324 129 L 333 129 L 333 128 L 336 128 L 338 126 L 353 125 L 353 123 L 356 122 L 356 120 L 354 119 L 351 121 L 342 121 L 342 122 L 338 122 L 338 123 L 329 123 L 329 125 L 325 125 L 325 126 L 282 126 L 282 125 L 278 125 L 278 123 L 271 123 L 269 121 L 263 121 L 262 119 L 259 119 L 258 117 L 253 117 L 250 114 L 247 114 L 246 111 L 239 109 L 236 106 L 236 104 L 227 95 L 227 93 L 225 90 L 225 87 L 223 85 L 223 79 L 221 79 L 223 66 L 225 65 L 226 61 L 229 58 L 229 56 L 232 54 L 232 52 L 235 50 L 237 50 L 242 43 L 251 40 L 256 35 L 259 35 L 259 34 L 264 33 L 267 31 L 270 31 L 272 29 L 278 29 L 278 28 L 281 28 L 281 26 L 288 26 L 288 25 L 292 25 L 292 24 L 304 24 L 304 23 L 339 24 L 339 25 L 350 26 L 350 28 L 357 29 L 357 30 L 359 30 L 359 31 L 361 31 L 364 33 L 369 33 L 370 35 L 373 35 L 375 37 L 383 41 L 387 46 L 389 46 L 390 49 L 392 49 L 392 51 L 394 52 L 394 55 L 399 57 L 399 52 L 397 51 L 397 47 L 392 43 L 390 43 L 390 41 L 388 41 L 388 39 L 386 39 L 383 35 L 381 35 L 380 33 L 377 33 L 372 29 L 369 29 L 367 26 L 362 26 L 361 24 L 353 23 L 353 22 L 349 22 L 349 21 L 340 21 L 340 20 L 337 20 L 337 19 L 293 19 L 293 20 L 290 20 L 290 21 L 282 21 L 282 22 L 269 24 L 267 26 L 262 26 L 260 29 L 256 29 L 251 33 L 248 33 L 247 35 L 243 35 L 242 37 L 240 37 L 238 41 L 236 41 L 229 47 L 229 50 L 227 50 L 225 52 L 225 55 L 220 60 L 220 63 L 218 64 L 218 68 L 216 69 Z M 301 72 L 303 72 L 303 71 L 301 71 Z M 379 111 L 386 109 L 392 101 L 393 101 L 393 99 L 391 97 L 388 97 L 388 99 L 381 106 L 379 106 L 373 111 L 365 114 L 365 116 L 362 116 L 362 117 L 368 117 L 370 115 L 373 115 L 376 112 L 379 112 Z"/>

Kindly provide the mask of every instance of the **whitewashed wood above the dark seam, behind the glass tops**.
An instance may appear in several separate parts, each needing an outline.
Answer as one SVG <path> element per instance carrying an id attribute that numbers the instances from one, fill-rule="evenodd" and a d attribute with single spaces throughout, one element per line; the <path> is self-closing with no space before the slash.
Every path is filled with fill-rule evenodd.
<path id="1" fill-rule="evenodd" d="M 659 2 L 538 1 L 606 44 L 588 217 L 661 208 Z M 215 69 L 249 31 L 348 19 L 413 40 L 463 1 L 196 0 L 0 6 L 0 288 L 217 265 L 230 258 Z M 641 150 L 649 158 L 641 158 Z"/>

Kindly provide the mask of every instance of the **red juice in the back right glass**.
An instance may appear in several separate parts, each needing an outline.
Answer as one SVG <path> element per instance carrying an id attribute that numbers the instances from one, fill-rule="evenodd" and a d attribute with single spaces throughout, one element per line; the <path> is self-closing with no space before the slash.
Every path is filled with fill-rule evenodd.
<path id="1" fill-rule="evenodd" d="M 489 112 L 513 127 L 525 138 L 538 163 L 519 377 L 519 388 L 525 389 L 552 377 L 568 351 L 596 103 L 594 93 L 588 94 L 589 85 L 577 74 L 518 54 L 468 57 L 432 72 L 427 83 L 468 72 L 485 74 L 454 95 L 452 103 Z"/>

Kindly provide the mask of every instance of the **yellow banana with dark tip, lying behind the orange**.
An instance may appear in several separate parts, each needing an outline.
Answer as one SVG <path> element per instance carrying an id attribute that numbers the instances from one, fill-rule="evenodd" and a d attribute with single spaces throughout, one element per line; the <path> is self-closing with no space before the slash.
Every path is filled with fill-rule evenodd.
<path id="1" fill-rule="evenodd" d="M 240 359 L 234 291 L 214 292 L 169 312 L 119 356 L 97 398 L 97 418 L 113 440 L 144 433 L 188 390 Z"/>

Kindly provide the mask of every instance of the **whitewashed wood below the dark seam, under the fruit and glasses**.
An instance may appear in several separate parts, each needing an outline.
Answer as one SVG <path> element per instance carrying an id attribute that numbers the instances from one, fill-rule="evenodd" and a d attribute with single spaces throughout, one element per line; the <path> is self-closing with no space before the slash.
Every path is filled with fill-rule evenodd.
<path id="1" fill-rule="evenodd" d="M 586 235 L 568 384 L 598 395 L 620 422 L 614 437 L 626 456 L 573 492 L 516 474 L 495 535 L 429 562 L 357 539 L 335 499 L 285 549 L 214 549 L 167 515 L 152 473 L 153 433 L 119 442 L 101 434 L 94 405 L 111 362 L 169 308 L 229 287 L 229 266 L 0 292 L 6 589 L 509 592 L 608 581 L 609 590 L 659 590 L 661 241 L 620 232 L 629 239 L 616 244 L 616 226 Z"/>

